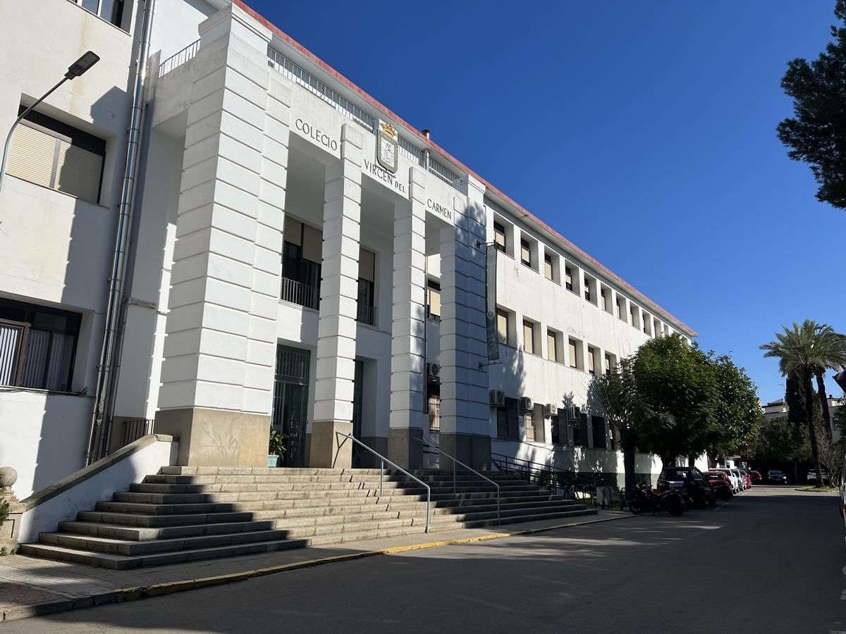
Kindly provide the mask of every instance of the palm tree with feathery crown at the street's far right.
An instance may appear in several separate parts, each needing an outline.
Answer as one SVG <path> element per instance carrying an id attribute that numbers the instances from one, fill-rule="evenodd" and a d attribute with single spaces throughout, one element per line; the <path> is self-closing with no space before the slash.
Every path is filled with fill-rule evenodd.
<path id="1" fill-rule="evenodd" d="M 819 477 L 820 452 L 816 442 L 812 380 L 818 369 L 836 368 L 846 362 L 846 337 L 836 333 L 830 325 L 817 325 L 813 320 L 805 320 L 802 325 L 794 321 L 793 328 L 783 328 L 784 332 L 776 333 L 776 341 L 765 343 L 761 350 L 766 351 L 765 357 L 777 357 L 781 373 L 793 375 L 802 386 L 811 459 L 817 473 L 815 485 L 820 487 L 822 478 Z"/>

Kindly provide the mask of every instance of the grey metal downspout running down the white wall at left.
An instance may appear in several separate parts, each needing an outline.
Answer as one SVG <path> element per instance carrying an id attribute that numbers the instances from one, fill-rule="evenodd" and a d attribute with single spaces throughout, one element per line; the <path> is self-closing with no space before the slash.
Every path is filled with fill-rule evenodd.
<path id="1" fill-rule="evenodd" d="M 88 450 L 85 452 L 85 464 L 94 462 L 102 453 L 100 430 L 104 423 L 108 402 L 113 396 L 114 377 L 112 365 L 118 346 L 118 329 L 121 314 L 121 298 L 124 292 L 124 273 L 126 254 L 129 250 L 129 227 L 132 224 L 132 201 L 135 195 L 135 170 L 140 150 L 141 127 L 144 123 L 144 87 L 147 76 L 147 57 L 150 55 L 150 32 L 153 21 L 153 8 L 156 0 L 144 0 L 144 17 L 141 35 L 138 41 L 138 57 L 135 61 L 135 90 L 132 110 L 129 117 L 129 134 L 126 146 L 126 166 L 124 184 L 120 194 L 118 210 L 118 230 L 114 240 L 114 258 L 112 274 L 109 277 L 108 300 L 106 304 L 106 325 L 100 351 L 100 363 L 97 366 L 97 382 L 94 394 L 94 411 L 91 413 L 91 429 L 88 435 Z"/>

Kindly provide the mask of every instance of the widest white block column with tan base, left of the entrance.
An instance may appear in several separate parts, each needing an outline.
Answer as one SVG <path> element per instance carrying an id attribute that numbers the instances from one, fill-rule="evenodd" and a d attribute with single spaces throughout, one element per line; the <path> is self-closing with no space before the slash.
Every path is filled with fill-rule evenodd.
<path id="1" fill-rule="evenodd" d="M 289 103 L 270 37 L 234 5 L 200 25 L 155 424 L 180 464 L 266 464 Z"/>

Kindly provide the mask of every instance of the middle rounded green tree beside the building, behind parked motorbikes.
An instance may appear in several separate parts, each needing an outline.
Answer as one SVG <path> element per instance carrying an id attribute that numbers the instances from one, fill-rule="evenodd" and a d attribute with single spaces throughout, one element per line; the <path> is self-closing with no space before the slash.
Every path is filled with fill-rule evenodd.
<path id="1" fill-rule="evenodd" d="M 706 451 L 717 396 L 707 355 L 678 335 L 656 337 L 638 348 L 634 378 L 643 408 L 641 449 L 665 466 Z"/>

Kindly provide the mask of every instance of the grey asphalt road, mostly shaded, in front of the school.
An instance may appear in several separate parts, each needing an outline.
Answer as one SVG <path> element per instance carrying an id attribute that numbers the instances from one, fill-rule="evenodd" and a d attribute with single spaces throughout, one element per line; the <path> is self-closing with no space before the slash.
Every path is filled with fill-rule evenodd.
<path id="1" fill-rule="evenodd" d="M 319 566 L 12 632 L 841 632 L 837 497 L 761 487 L 645 516 Z"/>

